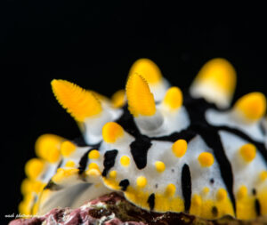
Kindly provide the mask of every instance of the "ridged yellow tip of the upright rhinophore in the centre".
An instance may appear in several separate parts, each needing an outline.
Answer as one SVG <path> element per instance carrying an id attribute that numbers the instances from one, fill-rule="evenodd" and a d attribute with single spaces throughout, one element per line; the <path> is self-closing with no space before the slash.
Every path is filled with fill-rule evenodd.
<path id="1" fill-rule="evenodd" d="M 138 75 L 129 76 L 126 84 L 128 108 L 134 117 L 153 116 L 156 113 L 156 104 L 153 94 L 146 80 Z"/>

